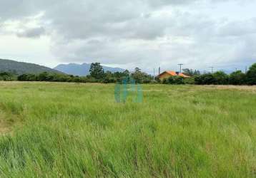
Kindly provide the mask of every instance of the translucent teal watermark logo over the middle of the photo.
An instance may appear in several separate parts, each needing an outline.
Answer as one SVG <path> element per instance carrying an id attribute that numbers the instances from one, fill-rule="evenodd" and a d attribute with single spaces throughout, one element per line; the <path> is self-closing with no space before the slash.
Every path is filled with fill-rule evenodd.
<path id="1" fill-rule="evenodd" d="M 142 103 L 142 85 L 136 83 L 133 78 L 124 78 L 121 83 L 114 87 L 114 98 L 117 103 L 126 103 L 128 95 L 132 96 L 132 102 Z"/>

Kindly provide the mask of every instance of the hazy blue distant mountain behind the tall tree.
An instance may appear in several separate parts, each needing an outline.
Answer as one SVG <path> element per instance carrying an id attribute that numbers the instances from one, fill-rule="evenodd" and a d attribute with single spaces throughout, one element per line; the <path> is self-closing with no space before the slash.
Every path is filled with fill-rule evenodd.
<path id="1" fill-rule="evenodd" d="M 60 64 L 59 66 L 56 66 L 56 68 L 54 69 L 70 75 L 85 76 L 85 75 L 89 75 L 90 66 L 91 66 L 90 63 L 82 63 L 82 64 L 69 63 L 69 64 Z M 104 71 L 110 71 L 112 73 L 124 71 L 124 69 L 122 68 L 111 68 L 107 66 L 103 66 L 103 68 L 104 68 Z"/>

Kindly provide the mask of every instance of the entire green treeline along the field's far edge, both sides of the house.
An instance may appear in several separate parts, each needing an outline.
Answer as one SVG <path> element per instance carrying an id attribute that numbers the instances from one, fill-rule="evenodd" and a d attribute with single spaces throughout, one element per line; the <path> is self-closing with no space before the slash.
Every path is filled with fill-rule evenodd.
<path id="1" fill-rule="evenodd" d="M 70 83 L 121 83 L 124 78 L 134 80 L 136 83 L 163 83 L 163 84 L 192 84 L 192 85 L 256 85 L 256 63 L 253 64 L 247 73 L 237 70 L 229 75 L 217 71 L 215 73 L 200 74 L 198 70 L 184 69 L 183 73 L 189 78 L 173 76 L 159 80 L 152 75 L 142 72 L 139 68 L 130 73 L 129 70 L 124 72 L 105 72 L 100 63 L 92 63 L 90 74 L 81 77 L 67 75 L 63 73 L 39 73 L 39 74 L 22 74 L 18 75 L 15 71 L 0 72 L 0 80 L 12 81 L 47 81 L 47 82 L 70 82 Z"/>

